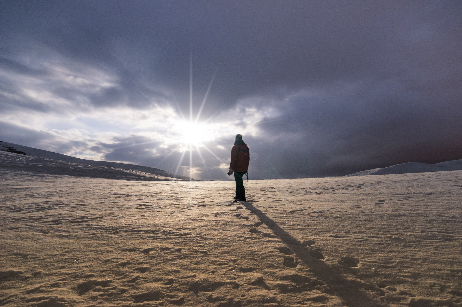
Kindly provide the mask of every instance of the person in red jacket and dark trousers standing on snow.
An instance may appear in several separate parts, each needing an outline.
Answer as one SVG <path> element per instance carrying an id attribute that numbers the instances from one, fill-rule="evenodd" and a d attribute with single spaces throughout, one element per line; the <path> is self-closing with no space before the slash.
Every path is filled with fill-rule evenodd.
<path id="1" fill-rule="evenodd" d="M 250 152 L 247 144 L 244 143 L 240 134 L 236 135 L 235 140 L 234 146 L 231 149 L 231 163 L 228 175 L 234 173 L 234 180 L 236 181 L 235 201 L 246 201 L 242 178 L 244 174 L 247 174 L 247 169 L 249 168 Z M 249 178 L 248 175 L 247 178 Z"/>

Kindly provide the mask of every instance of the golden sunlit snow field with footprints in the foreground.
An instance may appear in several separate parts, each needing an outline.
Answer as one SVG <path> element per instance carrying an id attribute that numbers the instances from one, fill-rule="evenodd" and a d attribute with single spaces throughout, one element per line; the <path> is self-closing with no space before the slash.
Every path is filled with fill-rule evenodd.
<path id="1" fill-rule="evenodd" d="M 462 306 L 462 171 L 233 185 L 0 168 L 0 305 Z"/>

